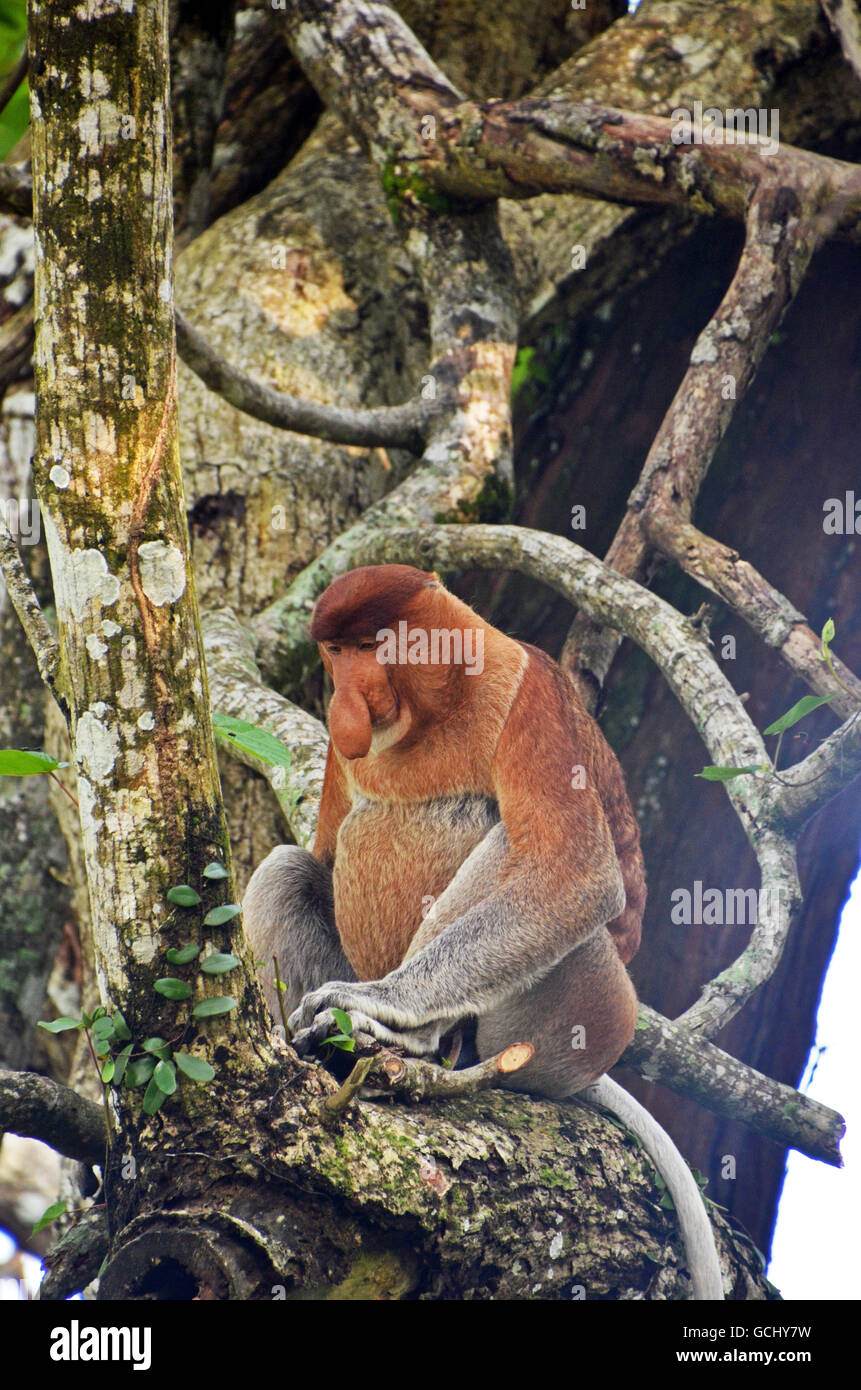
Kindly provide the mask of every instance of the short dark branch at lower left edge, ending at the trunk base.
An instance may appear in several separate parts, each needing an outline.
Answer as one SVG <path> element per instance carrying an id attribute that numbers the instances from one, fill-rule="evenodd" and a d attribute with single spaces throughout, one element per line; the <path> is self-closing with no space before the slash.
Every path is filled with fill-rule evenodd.
<path id="1" fill-rule="evenodd" d="M 104 1161 L 104 1111 L 68 1086 L 35 1072 L 0 1069 L 0 1133 L 39 1138 L 67 1158 Z"/>

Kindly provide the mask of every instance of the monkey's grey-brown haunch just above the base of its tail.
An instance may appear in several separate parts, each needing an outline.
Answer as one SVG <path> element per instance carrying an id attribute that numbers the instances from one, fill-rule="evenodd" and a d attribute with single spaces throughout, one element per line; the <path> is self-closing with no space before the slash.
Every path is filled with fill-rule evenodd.
<path id="1" fill-rule="evenodd" d="M 531 1042 L 531 1062 L 502 1084 L 562 1099 L 619 1059 L 636 1022 L 634 987 L 609 931 L 600 927 L 542 980 L 484 1013 L 476 1044 L 487 1058 L 510 1042 Z"/>

